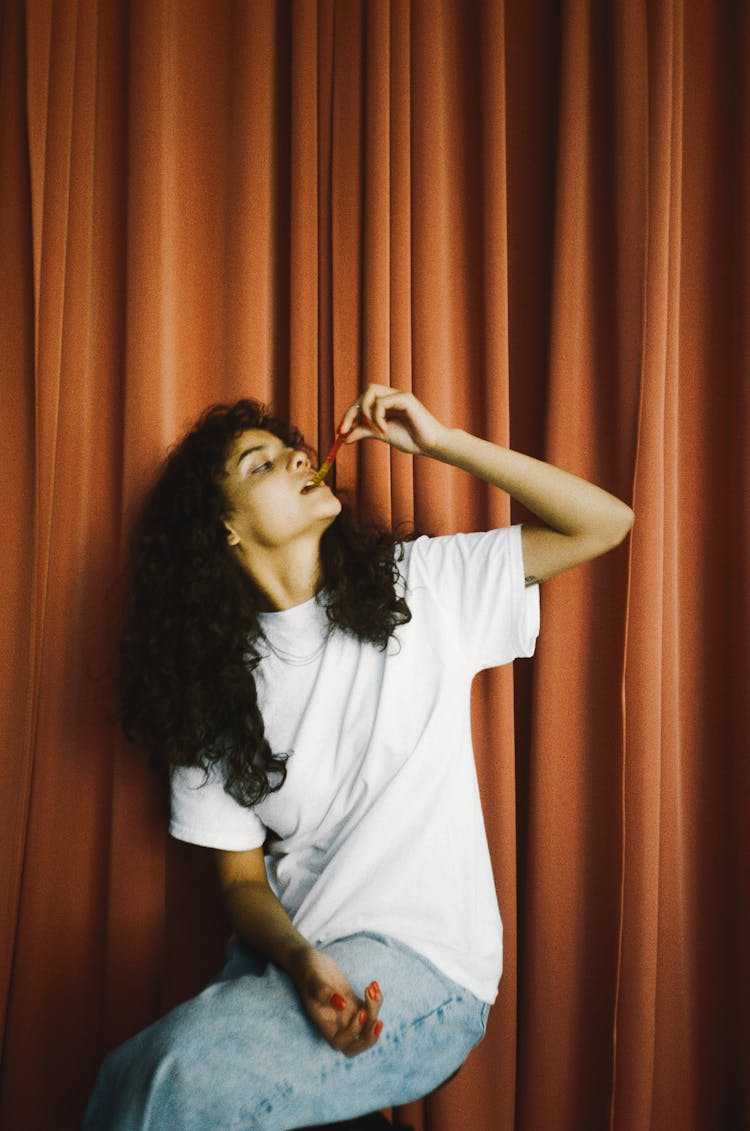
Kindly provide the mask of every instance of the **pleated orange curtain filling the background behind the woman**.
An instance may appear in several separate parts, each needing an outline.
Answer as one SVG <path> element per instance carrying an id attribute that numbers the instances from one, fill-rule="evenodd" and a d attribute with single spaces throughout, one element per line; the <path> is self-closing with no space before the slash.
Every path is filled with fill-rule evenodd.
<path id="1" fill-rule="evenodd" d="M 221 962 L 206 853 L 110 722 L 132 509 L 210 402 L 325 447 L 368 380 L 628 501 L 477 681 L 506 923 L 419 1131 L 750 1125 L 750 8 L 1 0 L 0 1122 Z M 362 512 L 509 518 L 346 451 Z M 208 1131 L 208 1129 L 207 1129 Z"/>

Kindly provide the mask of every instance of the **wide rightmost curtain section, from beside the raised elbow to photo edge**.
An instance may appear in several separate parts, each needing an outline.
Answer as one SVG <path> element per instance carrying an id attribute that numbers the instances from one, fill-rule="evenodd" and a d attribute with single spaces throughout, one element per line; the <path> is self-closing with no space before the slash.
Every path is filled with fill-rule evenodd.
<path id="1" fill-rule="evenodd" d="M 738 745 L 733 724 L 733 689 L 747 685 L 739 640 L 747 586 L 733 532 L 738 503 L 741 525 L 748 517 L 738 443 L 748 424 L 748 370 L 736 364 L 747 330 L 734 318 L 739 303 L 747 322 L 747 291 L 736 287 L 747 269 L 740 154 L 748 83 L 740 59 L 747 60 L 749 32 L 747 11 L 729 6 L 649 10 L 635 475 L 643 519 L 633 532 L 630 590 L 630 607 L 643 615 L 631 614 L 626 666 L 615 1128 L 748 1120 L 740 1083 L 748 988 L 738 949 L 747 940 L 747 843 L 736 823 L 743 802 L 733 793 L 733 783 L 747 783 L 740 753 L 747 736 Z M 739 494 L 734 484 L 742 484 Z M 714 982 L 717 967 L 723 975 Z M 644 1029 L 645 1018 L 656 1024 Z"/>

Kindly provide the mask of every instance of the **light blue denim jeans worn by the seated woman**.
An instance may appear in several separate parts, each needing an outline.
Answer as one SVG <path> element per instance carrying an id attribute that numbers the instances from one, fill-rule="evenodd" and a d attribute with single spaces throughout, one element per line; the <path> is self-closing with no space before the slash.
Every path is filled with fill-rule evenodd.
<path id="1" fill-rule="evenodd" d="M 378 1043 L 333 1050 L 294 984 L 234 944 L 201 994 L 104 1061 L 84 1131 L 288 1131 L 419 1099 L 484 1036 L 490 1007 L 408 947 L 357 934 L 321 948 L 383 993 Z"/>

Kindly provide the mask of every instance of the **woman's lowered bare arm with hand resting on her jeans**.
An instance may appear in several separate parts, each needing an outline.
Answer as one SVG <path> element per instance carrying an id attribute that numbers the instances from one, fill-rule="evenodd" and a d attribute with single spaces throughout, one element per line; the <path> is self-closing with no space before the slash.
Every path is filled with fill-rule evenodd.
<path id="1" fill-rule="evenodd" d="M 382 1027 L 378 984 L 372 982 L 360 998 L 336 964 L 300 934 L 268 884 L 262 848 L 216 851 L 215 856 L 230 920 L 240 939 L 286 970 L 310 1020 L 329 1045 L 345 1056 L 371 1048 Z"/>

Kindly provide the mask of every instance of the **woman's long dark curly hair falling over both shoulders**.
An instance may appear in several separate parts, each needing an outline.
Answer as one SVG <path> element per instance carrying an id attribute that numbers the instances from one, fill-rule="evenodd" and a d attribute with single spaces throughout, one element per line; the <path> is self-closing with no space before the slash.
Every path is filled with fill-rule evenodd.
<path id="1" fill-rule="evenodd" d="M 162 769 L 223 762 L 242 805 L 282 787 L 287 758 L 270 749 L 252 674 L 264 601 L 222 523 L 226 457 L 248 429 L 310 451 L 250 399 L 212 406 L 172 449 L 132 530 L 117 680 L 127 737 Z M 344 506 L 320 550 L 330 625 L 385 647 L 411 619 L 397 590 L 403 539 L 359 526 Z"/>

